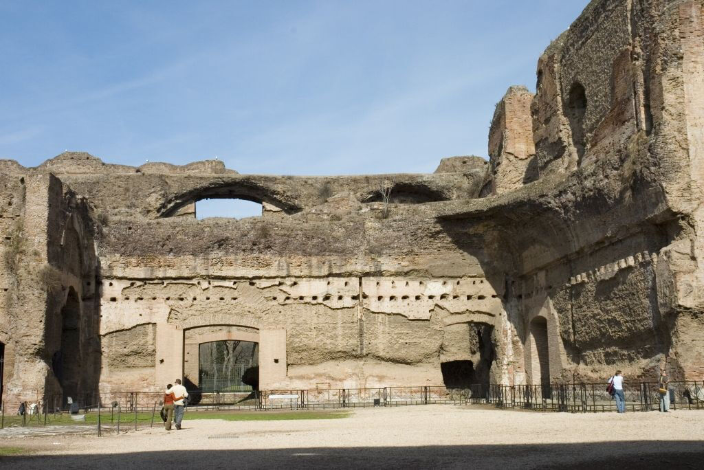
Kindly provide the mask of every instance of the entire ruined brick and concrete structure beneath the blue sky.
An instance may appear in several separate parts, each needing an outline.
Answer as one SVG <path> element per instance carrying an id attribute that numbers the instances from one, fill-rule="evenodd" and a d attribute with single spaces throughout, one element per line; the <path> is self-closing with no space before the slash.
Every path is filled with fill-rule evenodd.
<path id="1" fill-rule="evenodd" d="M 703 9 L 592 1 L 536 94 L 498 103 L 489 163 L 0 160 L 5 398 L 158 390 L 225 340 L 258 343 L 263 389 L 650 378 L 666 356 L 703 379 Z M 196 220 L 203 198 L 263 214 Z"/>

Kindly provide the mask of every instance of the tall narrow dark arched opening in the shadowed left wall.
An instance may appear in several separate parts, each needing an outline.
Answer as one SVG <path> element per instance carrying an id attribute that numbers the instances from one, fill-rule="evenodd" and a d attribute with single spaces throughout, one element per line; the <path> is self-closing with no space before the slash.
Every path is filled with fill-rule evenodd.
<path id="1" fill-rule="evenodd" d="M 68 289 L 66 303 L 61 308 L 61 348 L 54 353 L 52 367 L 61 384 L 63 400 L 76 399 L 80 392 L 81 360 L 80 302 L 73 287 Z"/>

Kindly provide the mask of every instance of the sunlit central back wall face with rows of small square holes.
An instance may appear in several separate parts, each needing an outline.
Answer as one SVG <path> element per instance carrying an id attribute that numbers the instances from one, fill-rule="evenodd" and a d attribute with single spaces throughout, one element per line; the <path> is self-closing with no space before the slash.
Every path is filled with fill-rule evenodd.
<path id="1" fill-rule="evenodd" d="M 285 376 L 263 373 L 270 388 L 437 384 L 443 355 L 478 362 L 468 340 L 452 341 L 501 315 L 477 260 L 432 218 L 408 230 L 417 210 L 399 205 L 386 220 L 360 210 L 341 220 L 111 222 L 101 241 L 103 336 L 139 323 L 172 324 L 187 338 L 206 325 L 285 331 Z"/>

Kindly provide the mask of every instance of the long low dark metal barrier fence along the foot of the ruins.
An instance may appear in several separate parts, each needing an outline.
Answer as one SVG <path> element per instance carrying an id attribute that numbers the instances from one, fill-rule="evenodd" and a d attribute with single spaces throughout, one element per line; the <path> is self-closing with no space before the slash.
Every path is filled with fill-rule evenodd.
<path id="1" fill-rule="evenodd" d="M 627 411 L 658 409 L 660 393 L 655 382 L 624 383 Z M 161 425 L 161 392 L 82 393 L 72 404 L 63 396 L 47 396 L 19 403 L 2 403 L 0 428 L 8 426 L 48 426 L 75 424 L 96 426 L 99 433 L 120 432 Z M 615 400 L 605 383 L 551 385 L 474 385 L 470 388 L 441 386 L 332 388 L 322 390 L 231 390 L 203 392 L 191 390 L 189 413 L 239 409 L 328 409 L 355 407 L 394 407 L 406 405 L 489 404 L 501 408 L 523 408 L 555 412 L 615 411 Z M 704 409 L 704 381 L 670 382 L 672 409 Z"/>

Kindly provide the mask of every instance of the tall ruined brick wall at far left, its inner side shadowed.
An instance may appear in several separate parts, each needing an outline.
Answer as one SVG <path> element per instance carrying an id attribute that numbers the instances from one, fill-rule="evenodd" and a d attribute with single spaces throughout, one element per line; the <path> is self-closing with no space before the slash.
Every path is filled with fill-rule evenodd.
<path id="1" fill-rule="evenodd" d="M 36 400 L 44 393 L 61 392 L 55 353 L 62 349 L 67 327 L 76 331 L 70 356 L 77 360 L 73 366 L 67 361 L 67 367 L 80 369 L 74 388 L 92 390 L 100 362 L 96 314 L 87 301 L 94 298 L 96 258 L 91 257 L 94 246 L 86 208 L 64 193 L 52 174 L 6 169 L 0 268 L 5 397 Z M 72 294 L 75 318 L 67 322 L 64 307 Z"/>

